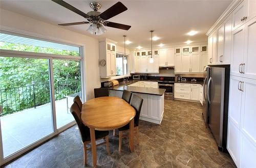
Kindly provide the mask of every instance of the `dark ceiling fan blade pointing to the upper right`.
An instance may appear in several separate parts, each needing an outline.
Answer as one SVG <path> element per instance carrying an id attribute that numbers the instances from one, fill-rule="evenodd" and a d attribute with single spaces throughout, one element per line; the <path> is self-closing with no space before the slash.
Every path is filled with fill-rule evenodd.
<path id="1" fill-rule="evenodd" d="M 118 2 L 109 9 L 105 10 L 103 13 L 101 13 L 99 17 L 101 19 L 108 20 L 126 10 L 127 8 L 121 2 Z"/>

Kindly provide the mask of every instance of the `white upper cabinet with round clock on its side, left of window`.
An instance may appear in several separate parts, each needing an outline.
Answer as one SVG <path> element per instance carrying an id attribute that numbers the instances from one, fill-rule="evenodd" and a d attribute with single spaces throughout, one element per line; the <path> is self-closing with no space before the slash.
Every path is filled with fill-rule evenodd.
<path id="1" fill-rule="evenodd" d="M 108 78 L 116 75 L 116 42 L 106 39 L 99 42 L 100 77 Z"/>

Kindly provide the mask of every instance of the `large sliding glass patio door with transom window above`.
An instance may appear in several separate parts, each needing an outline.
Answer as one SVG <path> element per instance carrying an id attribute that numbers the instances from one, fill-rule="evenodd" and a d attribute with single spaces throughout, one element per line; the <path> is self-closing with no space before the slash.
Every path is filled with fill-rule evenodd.
<path id="1" fill-rule="evenodd" d="M 81 47 L 0 33 L 0 166 L 75 124 Z"/>

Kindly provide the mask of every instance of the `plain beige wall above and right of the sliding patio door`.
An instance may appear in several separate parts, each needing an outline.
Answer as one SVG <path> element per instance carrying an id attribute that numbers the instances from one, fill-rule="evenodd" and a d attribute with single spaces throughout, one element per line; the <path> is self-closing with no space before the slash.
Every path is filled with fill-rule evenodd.
<path id="1" fill-rule="evenodd" d="M 84 46 L 86 98 L 94 98 L 94 88 L 100 87 L 99 42 L 97 39 L 63 29 L 8 10 L 0 10 L 0 29 L 15 33 Z"/>

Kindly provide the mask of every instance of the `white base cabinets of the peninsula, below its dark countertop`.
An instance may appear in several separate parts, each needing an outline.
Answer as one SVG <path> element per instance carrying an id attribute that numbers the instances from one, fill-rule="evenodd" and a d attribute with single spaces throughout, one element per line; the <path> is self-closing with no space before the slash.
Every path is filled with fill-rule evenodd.
<path id="1" fill-rule="evenodd" d="M 122 98 L 122 91 L 110 90 L 110 96 Z M 143 99 L 140 120 L 161 124 L 164 113 L 164 94 L 161 96 L 133 93 Z"/>

